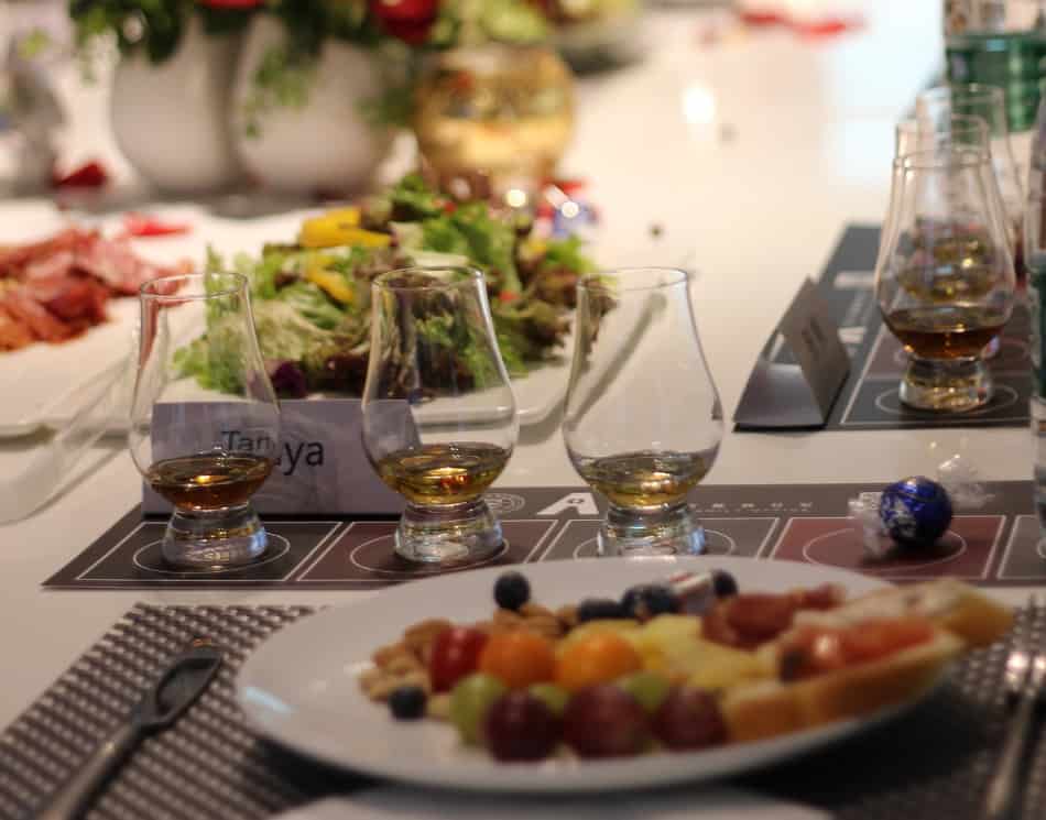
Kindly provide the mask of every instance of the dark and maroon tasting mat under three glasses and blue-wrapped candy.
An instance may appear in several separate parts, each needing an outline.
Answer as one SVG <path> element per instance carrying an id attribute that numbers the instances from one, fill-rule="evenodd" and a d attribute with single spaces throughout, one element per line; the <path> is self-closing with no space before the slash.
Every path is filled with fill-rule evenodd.
<path id="1" fill-rule="evenodd" d="M 1031 482 L 993 482 L 977 510 L 958 511 L 935 548 L 867 558 L 847 517 L 847 501 L 879 484 L 767 484 L 699 488 L 694 503 L 712 555 L 797 560 L 886 581 L 937 576 L 988 586 L 1046 583 Z M 596 555 L 603 502 L 577 488 L 508 489 L 488 494 L 506 544 L 482 562 L 454 570 L 418 567 L 393 553 L 394 520 L 266 518 L 271 545 L 250 567 L 178 571 L 164 565 L 165 521 L 135 509 L 50 578 L 58 589 L 378 589 L 477 566 Z"/>

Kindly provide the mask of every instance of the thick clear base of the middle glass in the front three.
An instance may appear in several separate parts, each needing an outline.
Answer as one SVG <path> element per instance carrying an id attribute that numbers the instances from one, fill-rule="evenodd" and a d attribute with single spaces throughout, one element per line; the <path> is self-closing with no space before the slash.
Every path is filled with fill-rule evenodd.
<path id="1" fill-rule="evenodd" d="M 396 529 L 396 555 L 423 564 L 489 558 L 504 544 L 501 522 L 483 499 L 449 506 L 407 504 Z"/>

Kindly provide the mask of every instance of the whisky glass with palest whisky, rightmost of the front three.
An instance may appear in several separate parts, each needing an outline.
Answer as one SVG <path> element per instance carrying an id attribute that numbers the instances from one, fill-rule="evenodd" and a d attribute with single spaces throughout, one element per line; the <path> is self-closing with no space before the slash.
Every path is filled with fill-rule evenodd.
<path id="1" fill-rule="evenodd" d="M 715 463 L 723 423 L 688 275 L 618 270 L 577 289 L 563 437 L 574 468 L 610 502 L 599 555 L 700 554 L 688 494 Z"/>

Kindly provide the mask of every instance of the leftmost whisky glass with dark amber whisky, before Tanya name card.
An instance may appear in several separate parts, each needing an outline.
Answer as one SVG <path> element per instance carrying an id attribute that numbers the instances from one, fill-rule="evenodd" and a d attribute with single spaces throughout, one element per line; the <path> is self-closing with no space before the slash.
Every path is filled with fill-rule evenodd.
<path id="1" fill-rule="evenodd" d="M 279 456 L 280 406 L 248 282 L 237 273 L 166 276 L 145 283 L 140 300 L 129 444 L 145 482 L 174 505 L 163 558 L 197 570 L 250 564 L 268 546 L 250 500 Z"/>

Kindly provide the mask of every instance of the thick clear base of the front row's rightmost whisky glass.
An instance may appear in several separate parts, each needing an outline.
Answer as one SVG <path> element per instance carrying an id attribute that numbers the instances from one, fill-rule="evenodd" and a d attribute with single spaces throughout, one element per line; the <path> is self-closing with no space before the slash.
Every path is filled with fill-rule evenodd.
<path id="1" fill-rule="evenodd" d="M 650 513 L 611 504 L 596 543 L 600 556 L 701 555 L 705 527 L 686 503 Z"/>

